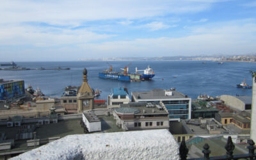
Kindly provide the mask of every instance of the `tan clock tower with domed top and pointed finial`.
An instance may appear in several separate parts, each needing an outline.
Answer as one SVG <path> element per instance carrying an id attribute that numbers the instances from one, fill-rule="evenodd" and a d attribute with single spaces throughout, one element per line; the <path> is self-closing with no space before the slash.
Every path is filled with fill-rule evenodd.
<path id="1" fill-rule="evenodd" d="M 83 70 L 83 84 L 77 92 L 77 112 L 93 109 L 93 91 L 87 82 L 87 70 Z"/>

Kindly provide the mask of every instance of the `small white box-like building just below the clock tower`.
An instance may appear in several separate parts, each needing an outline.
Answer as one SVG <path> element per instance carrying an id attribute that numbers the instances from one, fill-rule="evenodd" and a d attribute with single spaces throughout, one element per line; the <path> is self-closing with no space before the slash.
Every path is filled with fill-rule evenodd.
<path id="1" fill-rule="evenodd" d="M 101 131 L 101 122 L 92 111 L 83 112 L 83 122 L 89 132 Z"/>

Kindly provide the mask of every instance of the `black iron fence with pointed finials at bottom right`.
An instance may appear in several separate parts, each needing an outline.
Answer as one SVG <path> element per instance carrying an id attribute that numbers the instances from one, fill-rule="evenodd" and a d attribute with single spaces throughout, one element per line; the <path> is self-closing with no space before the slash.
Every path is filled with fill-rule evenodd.
<path id="1" fill-rule="evenodd" d="M 235 145 L 233 144 L 232 138 L 230 136 L 228 136 L 228 140 L 227 140 L 227 144 L 225 145 L 225 149 L 227 150 L 227 154 L 225 156 L 214 156 L 214 157 L 210 157 L 211 154 L 211 150 L 210 147 L 207 143 L 205 143 L 204 145 L 204 150 L 202 150 L 204 157 L 201 158 L 192 158 L 189 160 L 203 160 L 203 159 L 256 159 L 256 155 L 254 153 L 255 150 L 255 143 L 253 140 L 248 140 L 247 142 L 249 145 L 247 146 L 248 148 L 248 154 L 239 154 L 239 155 L 233 155 L 233 151 L 235 149 Z M 188 152 L 189 149 L 186 146 L 186 142 L 185 140 L 182 140 L 182 142 L 180 143 L 180 159 L 181 160 L 186 160 L 188 157 Z"/>

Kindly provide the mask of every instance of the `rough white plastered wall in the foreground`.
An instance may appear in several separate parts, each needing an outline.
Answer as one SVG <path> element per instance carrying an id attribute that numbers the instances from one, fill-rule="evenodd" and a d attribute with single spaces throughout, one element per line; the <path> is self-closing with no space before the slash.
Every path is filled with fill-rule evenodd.
<path id="1" fill-rule="evenodd" d="M 178 148 L 166 129 L 76 134 L 12 159 L 179 159 Z"/>

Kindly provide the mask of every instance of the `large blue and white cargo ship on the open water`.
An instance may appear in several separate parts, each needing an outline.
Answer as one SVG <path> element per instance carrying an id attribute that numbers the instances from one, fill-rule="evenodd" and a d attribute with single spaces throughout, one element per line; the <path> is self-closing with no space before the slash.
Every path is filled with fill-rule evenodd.
<path id="1" fill-rule="evenodd" d="M 99 72 L 99 77 L 104 79 L 115 79 L 118 81 L 144 81 L 150 80 L 155 76 L 154 71 L 149 67 L 149 65 L 145 70 L 138 70 L 136 67 L 135 74 L 129 73 L 129 67 L 121 68 L 121 70 L 123 71 L 113 72 L 113 67 L 110 66 L 110 69 Z M 143 71 L 143 74 L 139 73 L 141 71 Z"/>

